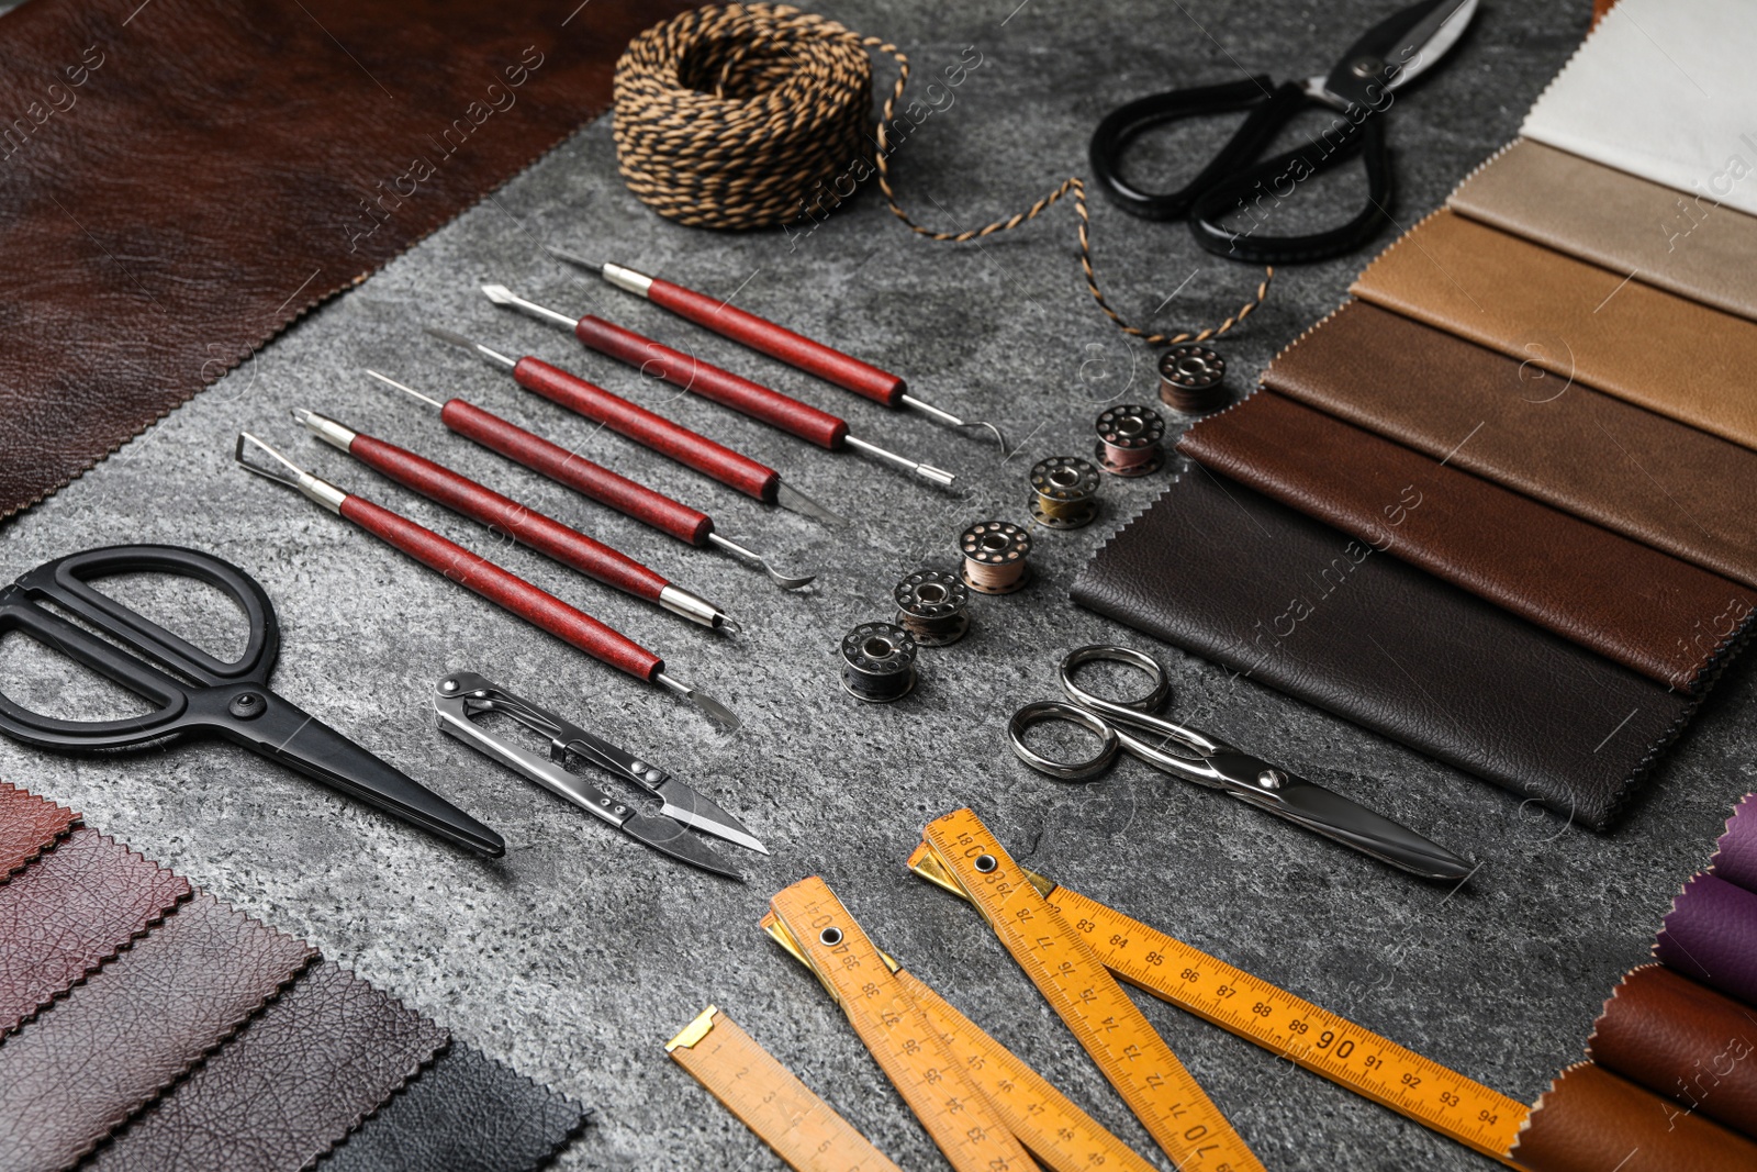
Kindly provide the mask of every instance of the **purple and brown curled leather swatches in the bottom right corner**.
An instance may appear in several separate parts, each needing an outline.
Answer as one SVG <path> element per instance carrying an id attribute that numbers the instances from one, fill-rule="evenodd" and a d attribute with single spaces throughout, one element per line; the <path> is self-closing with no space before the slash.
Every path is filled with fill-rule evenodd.
<path id="1" fill-rule="evenodd" d="M 1513 1147 L 1530 1172 L 1757 1168 L 1757 796 Z"/>

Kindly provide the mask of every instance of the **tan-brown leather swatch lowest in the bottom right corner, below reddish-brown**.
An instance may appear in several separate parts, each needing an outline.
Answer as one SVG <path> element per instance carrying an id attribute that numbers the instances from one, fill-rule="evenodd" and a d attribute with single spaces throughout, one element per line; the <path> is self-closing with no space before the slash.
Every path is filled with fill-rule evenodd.
<path id="1" fill-rule="evenodd" d="M 1757 1144 L 1581 1063 L 1537 1100 L 1511 1158 L 1530 1172 L 1734 1172 L 1757 1168 Z"/>

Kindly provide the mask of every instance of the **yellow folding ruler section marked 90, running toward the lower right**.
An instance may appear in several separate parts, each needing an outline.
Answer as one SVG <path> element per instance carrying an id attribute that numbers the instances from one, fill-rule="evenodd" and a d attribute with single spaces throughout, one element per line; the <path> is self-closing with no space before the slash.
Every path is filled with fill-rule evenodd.
<path id="1" fill-rule="evenodd" d="M 970 847 L 979 840 L 993 842 L 987 828 L 968 810 L 949 817 L 958 835 L 970 836 Z M 977 859 L 980 854 L 961 859 L 959 866 L 966 875 L 975 872 L 975 882 L 986 884 L 986 875 L 998 872 L 977 870 Z M 921 879 L 968 898 L 965 882 L 945 865 L 938 847 L 922 843 L 908 866 Z M 1024 868 L 1016 873 L 1042 894 L 1065 924 L 1074 926 L 1089 954 L 1117 980 L 1189 1010 L 1446 1139 L 1497 1160 L 1506 1158 L 1529 1111 L 1523 1103 L 1096 900 Z"/>

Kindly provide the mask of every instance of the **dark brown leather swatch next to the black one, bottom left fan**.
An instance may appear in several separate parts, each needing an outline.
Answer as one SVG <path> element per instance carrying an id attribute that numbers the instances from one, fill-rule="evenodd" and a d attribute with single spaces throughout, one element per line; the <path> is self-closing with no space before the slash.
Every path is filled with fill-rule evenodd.
<path id="1" fill-rule="evenodd" d="M 415 1077 L 445 1030 L 323 961 L 90 1163 L 283 1172 L 315 1163 Z"/>

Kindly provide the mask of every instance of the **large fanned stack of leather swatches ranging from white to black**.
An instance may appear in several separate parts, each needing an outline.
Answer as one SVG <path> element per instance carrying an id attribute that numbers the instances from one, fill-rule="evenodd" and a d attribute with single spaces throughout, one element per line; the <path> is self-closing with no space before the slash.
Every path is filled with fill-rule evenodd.
<path id="1" fill-rule="evenodd" d="M 1676 146 L 1574 118 L 1615 105 L 1627 81 L 1599 60 L 1643 16 L 1739 25 L 1692 72 L 1757 100 L 1757 23 L 1659 4 L 1611 9 L 1534 107 L 1527 135 L 1571 149 L 1513 142 L 1374 260 L 1256 394 L 1184 434 L 1195 467 L 1075 601 L 1613 822 L 1757 615 L 1757 216 L 1578 153 Z M 1752 107 L 1687 91 L 1643 88 L 1673 104 L 1650 123 L 1731 135 Z"/>

